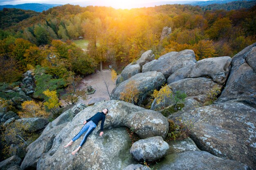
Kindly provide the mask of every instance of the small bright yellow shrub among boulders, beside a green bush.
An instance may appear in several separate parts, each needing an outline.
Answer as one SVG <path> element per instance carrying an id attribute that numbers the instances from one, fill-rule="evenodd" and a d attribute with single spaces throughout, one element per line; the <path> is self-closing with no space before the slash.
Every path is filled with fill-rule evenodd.
<path id="1" fill-rule="evenodd" d="M 166 98 L 169 98 L 172 94 L 173 94 L 173 91 L 171 90 L 171 88 L 167 84 L 165 84 L 165 85 L 162 85 L 162 88 L 159 91 L 155 89 L 152 96 L 153 98 L 156 98 L 157 105 L 160 102 L 163 102 L 165 107 Z"/>

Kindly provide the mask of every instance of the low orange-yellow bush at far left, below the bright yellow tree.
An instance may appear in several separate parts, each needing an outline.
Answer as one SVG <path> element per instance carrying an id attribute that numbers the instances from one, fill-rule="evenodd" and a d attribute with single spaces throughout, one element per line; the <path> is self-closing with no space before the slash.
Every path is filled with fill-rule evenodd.
<path id="1" fill-rule="evenodd" d="M 31 118 L 31 117 L 48 118 L 49 116 L 49 113 L 47 113 L 43 108 L 42 102 L 36 103 L 33 100 L 28 100 L 23 102 L 21 106 L 22 106 L 22 111 L 18 112 L 18 115 L 21 118 Z"/>

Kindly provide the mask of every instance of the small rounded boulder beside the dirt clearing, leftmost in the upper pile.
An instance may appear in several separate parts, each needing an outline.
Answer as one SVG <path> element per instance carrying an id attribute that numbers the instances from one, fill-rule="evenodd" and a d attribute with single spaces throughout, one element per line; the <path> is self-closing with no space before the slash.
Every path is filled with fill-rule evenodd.
<path id="1" fill-rule="evenodd" d="M 123 77 L 124 81 L 128 78 L 131 78 L 135 74 L 141 72 L 142 66 L 140 63 L 137 64 L 128 64 L 124 70 L 121 72 L 121 76 Z"/>

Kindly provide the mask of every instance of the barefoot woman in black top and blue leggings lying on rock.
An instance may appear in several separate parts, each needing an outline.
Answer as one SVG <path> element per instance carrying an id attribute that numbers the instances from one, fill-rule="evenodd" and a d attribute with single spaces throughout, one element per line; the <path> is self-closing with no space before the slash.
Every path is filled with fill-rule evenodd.
<path id="1" fill-rule="evenodd" d="M 83 137 L 83 140 L 81 141 L 80 145 L 78 146 L 78 148 L 76 148 L 76 150 L 74 150 L 72 152 L 72 155 L 75 155 L 76 152 L 83 146 L 83 144 L 85 143 L 87 137 L 92 133 L 92 131 L 97 127 L 99 121 L 101 120 L 101 133 L 99 134 L 99 136 L 103 135 L 103 125 L 105 122 L 105 117 L 106 114 L 108 113 L 108 109 L 103 109 L 102 112 L 98 112 L 96 113 L 94 116 L 92 116 L 90 119 L 85 120 L 83 122 L 83 124 L 85 124 L 83 126 L 83 128 L 79 131 L 79 133 L 66 145 L 64 146 L 64 148 L 66 148 L 67 146 L 72 145 L 72 143 L 78 139 L 83 133 L 85 133 L 85 131 L 87 131 L 85 133 L 85 136 Z"/>

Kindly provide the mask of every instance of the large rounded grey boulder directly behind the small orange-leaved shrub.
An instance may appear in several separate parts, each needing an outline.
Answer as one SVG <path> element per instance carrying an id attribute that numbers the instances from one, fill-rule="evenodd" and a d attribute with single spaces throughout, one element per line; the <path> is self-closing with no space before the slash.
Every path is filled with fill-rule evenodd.
<path id="1" fill-rule="evenodd" d="M 154 89 L 159 89 L 166 82 L 166 79 L 162 73 L 156 71 L 136 74 L 116 86 L 111 92 L 111 98 L 120 100 L 121 92 L 125 92 L 126 85 L 131 81 L 133 82 L 132 85 L 138 89 L 139 96 L 147 96 Z"/>

